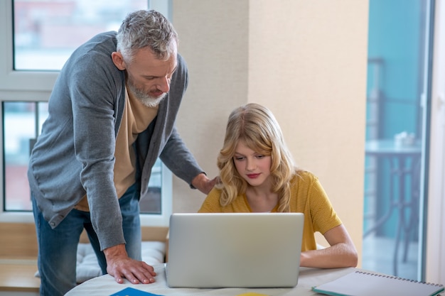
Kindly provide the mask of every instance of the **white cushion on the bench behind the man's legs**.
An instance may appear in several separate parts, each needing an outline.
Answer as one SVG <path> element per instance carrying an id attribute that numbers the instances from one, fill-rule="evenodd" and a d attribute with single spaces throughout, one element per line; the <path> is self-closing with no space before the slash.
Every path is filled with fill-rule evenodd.
<path id="1" fill-rule="evenodd" d="M 164 262 L 166 254 L 166 244 L 161 241 L 142 241 L 142 261 L 149 265 Z M 91 278 L 102 275 L 95 251 L 93 251 L 90 243 L 79 243 L 77 246 L 77 266 L 76 280 L 77 283 L 83 283 Z M 36 273 L 38 277 L 38 272 Z"/>

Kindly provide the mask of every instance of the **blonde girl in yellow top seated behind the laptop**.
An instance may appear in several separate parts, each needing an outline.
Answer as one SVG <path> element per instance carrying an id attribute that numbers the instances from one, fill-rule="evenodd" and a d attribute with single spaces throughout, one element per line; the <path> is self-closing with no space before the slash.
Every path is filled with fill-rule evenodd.
<path id="1" fill-rule="evenodd" d="M 348 231 L 318 178 L 295 167 L 281 128 L 269 109 L 246 104 L 232 111 L 217 164 L 220 182 L 198 212 L 301 212 L 301 266 L 357 265 L 357 251 Z M 328 248 L 317 250 L 316 231 L 326 238 Z"/>

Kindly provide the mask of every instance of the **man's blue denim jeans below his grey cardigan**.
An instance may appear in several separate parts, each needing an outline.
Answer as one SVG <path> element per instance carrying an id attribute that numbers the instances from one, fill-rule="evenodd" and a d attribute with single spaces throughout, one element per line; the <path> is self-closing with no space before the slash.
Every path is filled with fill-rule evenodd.
<path id="1" fill-rule="evenodd" d="M 129 187 L 124 196 L 119 199 L 119 204 L 126 241 L 125 248 L 130 258 L 141 261 L 139 190 L 136 188 L 136 185 Z M 90 212 L 73 209 L 55 229 L 51 229 L 48 221 L 45 221 L 36 206 L 35 199 L 33 199 L 33 214 L 36 221 L 41 295 L 65 295 L 77 285 L 77 244 L 84 228 L 96 253 L 102 273 L 107 273 L 107 261 L 104 253 L 100 251 L 99 240 L 92 229 Z"/>

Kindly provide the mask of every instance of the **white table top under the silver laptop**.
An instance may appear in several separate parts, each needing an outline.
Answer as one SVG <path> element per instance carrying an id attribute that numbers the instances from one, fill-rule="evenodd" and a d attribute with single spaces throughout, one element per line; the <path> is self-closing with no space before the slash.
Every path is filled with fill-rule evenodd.
<path id="1" fill-rule="evenodd" d="M 257 292 L 265 295 L 320 295 L 312 292 L 311 287 L 328 283 L 336 280 L 341 276 L 351 273 L 357 268 L 335 268 L 335 269 L 318 269 L 318 268 L 301 268 L 298 285 L 292 288 L 271 288 L 271 289 L 254 289 L 254 288 L 220 288 L 220 289 L 190 289 L 190 288 L 169 288 L 166 283 L 166 274 L 164 264 L 153 265 L 156 271 L 156 283 L 148 285 L 133 285 L 125 280 L 125 283 L 118 284 L 111 275 L 102 275 L 98 278 L 87 280 L 85 283 L 78 285 L 70 290 L 65 296 L 88 295 L 88 296 L 107 296 L 115 292 L 123 290 L 125 287 L 134 287 L 138 290 L 151 292 L 158 295 L 224 295 L 236 296 L 247 292 Z M 264 270 L 267 272 L 267 270 Z"/>

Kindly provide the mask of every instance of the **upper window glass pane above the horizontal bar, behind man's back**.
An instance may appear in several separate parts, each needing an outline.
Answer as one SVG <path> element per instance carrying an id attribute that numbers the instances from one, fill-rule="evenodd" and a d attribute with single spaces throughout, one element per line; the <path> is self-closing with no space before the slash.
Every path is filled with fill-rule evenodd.
<path id="1" fill-rule="evenodd" d="M 14 1 L 14 69 L 60 70 L 78 45 L 97 33 L 117 31 L 146 0 Z"/>

